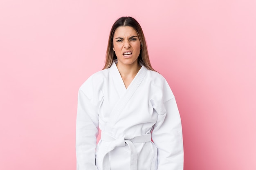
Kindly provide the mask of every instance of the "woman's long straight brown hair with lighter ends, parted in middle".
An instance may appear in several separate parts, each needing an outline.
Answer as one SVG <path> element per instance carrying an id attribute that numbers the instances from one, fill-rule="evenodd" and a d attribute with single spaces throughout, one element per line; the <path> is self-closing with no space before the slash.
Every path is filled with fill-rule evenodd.
<path id="1" fill-rule="evenodd" d="M 115 33 L 116 29 L 119 26 L 131 26 L 133 29 L 135 29 L 137 31 L 137 33 L 139 35 L 139 40 L 141 43 L 141 50 L 140 50 L 140 54 L 138 57 L 138 62 L 143 64 L 149 70 L 155 71 L 152 68 L 150 61 L 149 61 L 148 49 L 147 49 L 147 44 L 146 44 L 146 40 L 144 37 L 144 33 L 143 33 L 139 23 L 132 17 L 121 17 L 118 20 L 116 20 L 116 22 L 113 24 L 110 34 L 109 34 L 109 38 L 108 38 L 108 47 L 107 47 L 107 52 L 106 52 L 105 66 L 103 67 L 103 69 L 109 68 L 111 66 L 113 60 L 117 59 L 117 56 L 115 55 L 115 51 L 113 50 L 113 37 L 114 37 L 114 33 Z"/>

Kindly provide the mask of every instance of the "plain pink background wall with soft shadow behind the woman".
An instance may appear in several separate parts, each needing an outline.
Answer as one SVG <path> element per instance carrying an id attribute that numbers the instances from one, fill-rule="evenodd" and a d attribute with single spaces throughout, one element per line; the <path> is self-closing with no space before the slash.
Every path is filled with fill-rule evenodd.
<path id="1" fill-rule="evenodd" d="M 255 170 L 255 0 L 1 0 L 0 169 L 76 168 L 78 89 L 123 15 L 176 96 L 184 170 Z"/>

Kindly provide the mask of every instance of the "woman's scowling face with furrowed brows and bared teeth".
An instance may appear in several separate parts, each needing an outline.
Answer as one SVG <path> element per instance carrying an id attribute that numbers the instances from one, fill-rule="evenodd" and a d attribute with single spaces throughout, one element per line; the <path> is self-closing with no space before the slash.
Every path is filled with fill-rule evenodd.
<path id="1" fill-rule="evenodd" d="M 137 64 L 141 49 L 139 36 L 131 26 L 119 26 L 113 37 L 113 50 L 117 56 L 118 65 Z"/>

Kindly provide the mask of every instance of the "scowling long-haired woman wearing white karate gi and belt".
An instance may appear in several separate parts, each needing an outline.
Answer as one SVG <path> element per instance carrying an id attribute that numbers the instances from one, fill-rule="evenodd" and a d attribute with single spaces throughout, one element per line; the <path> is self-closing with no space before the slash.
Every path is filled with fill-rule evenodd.
<path id="1" fill-rule="evenodd" d="M 79 89 L 76 157 L 77 170 L 183 170 L 175 97 L 134 18 L 113 24 L 103 70 Z"/>

